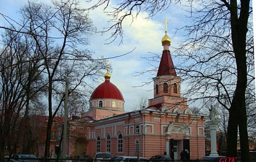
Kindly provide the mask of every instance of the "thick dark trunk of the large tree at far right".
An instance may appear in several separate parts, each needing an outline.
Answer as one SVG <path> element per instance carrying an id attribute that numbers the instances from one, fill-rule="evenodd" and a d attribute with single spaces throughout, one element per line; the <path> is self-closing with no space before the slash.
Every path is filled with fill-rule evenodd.
<path id="1" fill-rule="evenodd" d="M 250 161 L 249 141 L 247 132 L 247 115 L 246 115 L 246 87 L 247 87 L 247 62 L 246 62 L 246 35 L 247 24 L 249 17 L 250 0 L 243 0 L 241 2 L 240 13 L 238 12 L 238 5 L 236 0 L 230 1 L 230 23 L 232 31 L 232 43 L 234 49 L 234 56 L 237 65 L 237 84 L 234 92 L 232 105 L 230 108 L 229 124 L 238 122 L 239 125 L 239 138 L 241 148 L 241 161 Z M 233 125 L 234 126 L 234 125 Z M 232 131 L 228 128 L 228 131 Z M 227 142 L 227 156 L 234 156 L 234 144 L 230 143 L 235 141 L 235 135 L 227 132 L 231 137 Z M 232 146 L 232 148 L 229 148 Z M 234 156 L 236 157 L 236 156 Z"/>

